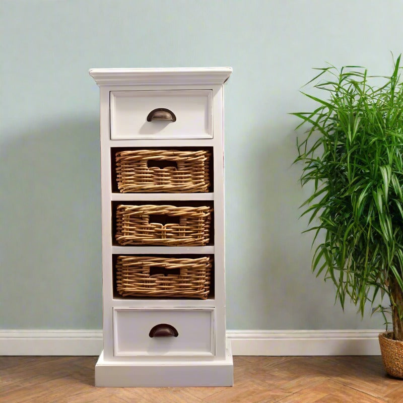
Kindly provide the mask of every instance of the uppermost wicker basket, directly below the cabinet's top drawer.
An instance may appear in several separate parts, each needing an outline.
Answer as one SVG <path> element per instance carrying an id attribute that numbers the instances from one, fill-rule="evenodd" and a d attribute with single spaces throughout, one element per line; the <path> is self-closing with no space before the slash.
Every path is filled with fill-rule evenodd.
<path id="1" fill-rule="evenodd" d="M 136 150 L 116 153 L 121 193 L 208 192 L 210 151 Z"/>

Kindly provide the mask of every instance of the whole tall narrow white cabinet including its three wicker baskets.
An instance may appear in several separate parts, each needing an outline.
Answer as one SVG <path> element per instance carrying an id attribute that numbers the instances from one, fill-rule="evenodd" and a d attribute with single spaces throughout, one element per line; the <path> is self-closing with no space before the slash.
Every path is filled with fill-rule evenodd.
<path id="1" fill-rule="evenodd" d="M 223 158 L 223 90 L 231 72 L 90 70 L 100 87 L 102 183 L 103 351 L 96 386 L 233 383 Z M 201 160 L 205 165 L 188 168 Z M 204 280 L 188 277 L 193 267 L 198 274 L 207 267 Z"/>

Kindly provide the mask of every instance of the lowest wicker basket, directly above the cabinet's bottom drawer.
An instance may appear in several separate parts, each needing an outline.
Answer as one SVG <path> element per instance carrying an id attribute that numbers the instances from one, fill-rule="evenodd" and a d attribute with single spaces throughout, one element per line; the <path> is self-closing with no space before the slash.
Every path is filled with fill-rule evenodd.
<path id="1" fill-rule="evenodd" d="M 116 289 L 122 296 L 207 299 L 212 258 L 118 256 Z"/>

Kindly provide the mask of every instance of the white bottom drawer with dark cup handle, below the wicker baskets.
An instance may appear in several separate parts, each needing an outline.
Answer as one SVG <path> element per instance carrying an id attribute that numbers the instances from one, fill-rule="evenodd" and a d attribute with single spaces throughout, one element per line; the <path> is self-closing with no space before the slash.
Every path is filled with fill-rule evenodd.
<path id="1" fill-rule="evenodd" d="M 113 308 L 113 354 L 214 355 L 214 308 Z"/>

